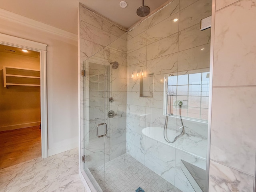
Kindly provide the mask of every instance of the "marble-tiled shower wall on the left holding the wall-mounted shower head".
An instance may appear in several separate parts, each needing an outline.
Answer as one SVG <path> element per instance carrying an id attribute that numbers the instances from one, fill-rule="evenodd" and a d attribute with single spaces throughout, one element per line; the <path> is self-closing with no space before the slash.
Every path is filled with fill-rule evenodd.
<path id="1" fill-rule="evenodd" d="M 79 22 L 81 146 L 90 170 L 126 152 L 127 34 L 122 26 L 80 4 Z M 84 62 L 86 60 L 86 62 Z M 113 69 L 110 62 L 118 62 Z M 109 98 L 114 102 L 110 103 Z M 114 118 L 108 118 L 113 110 Z M 107 135 L 96 137 L 96 126 L 107 123 Z M 99 134 L 104 134 L 104 126 Z"/>

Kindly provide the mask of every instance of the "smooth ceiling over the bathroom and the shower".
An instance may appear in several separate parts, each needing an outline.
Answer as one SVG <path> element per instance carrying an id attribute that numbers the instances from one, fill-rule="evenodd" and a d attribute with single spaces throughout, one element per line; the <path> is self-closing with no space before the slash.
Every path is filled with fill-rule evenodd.
<path id="1" fill-rule="evenodd" d="M 136 10 L 142 0 L 125 0 L 126 8 L 119 6 L 121 0 L 0 0 L 0 8 L 37 20 L 39 22 L 77 34 L 78 4 L 106 16 L 110 20 L 129 28 L 141 17 Z M 168 0 L 145 0 L 151 11 Z"/>

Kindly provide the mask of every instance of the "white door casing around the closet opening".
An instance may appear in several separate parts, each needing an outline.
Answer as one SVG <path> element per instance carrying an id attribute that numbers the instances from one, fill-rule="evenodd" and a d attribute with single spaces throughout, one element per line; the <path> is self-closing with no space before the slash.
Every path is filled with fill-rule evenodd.
<path id="1" fill-rule="evenodd" d="M 25 48 L 40 53 L 40 105 L 42 158 L 48 157 L 47 89 L 46 89 L 46 44 L 0 33 L 0 44 Z"/>

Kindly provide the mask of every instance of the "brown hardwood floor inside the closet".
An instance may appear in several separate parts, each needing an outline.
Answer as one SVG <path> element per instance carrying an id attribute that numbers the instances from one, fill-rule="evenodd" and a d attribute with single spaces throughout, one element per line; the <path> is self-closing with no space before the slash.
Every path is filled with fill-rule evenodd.
<path id="1" fill-rule="evenodd" d="M 0 132 L 0 169 L 40 156 L 40 126 Z"/>

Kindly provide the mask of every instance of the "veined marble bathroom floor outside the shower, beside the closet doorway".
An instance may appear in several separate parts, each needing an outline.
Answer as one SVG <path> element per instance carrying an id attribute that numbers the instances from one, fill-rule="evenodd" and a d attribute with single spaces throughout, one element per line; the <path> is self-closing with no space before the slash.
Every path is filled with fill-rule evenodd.
<path id="1" fill-rule="evenodd" d="M 1 169 L 0 192 L 86 192 L 78 174 L 78 148 Z"/>

